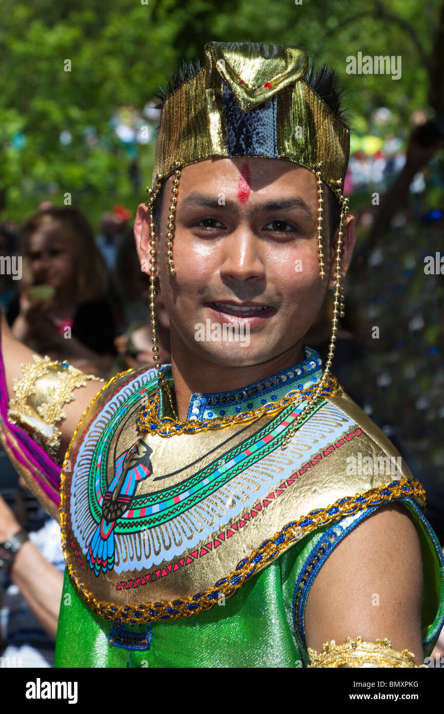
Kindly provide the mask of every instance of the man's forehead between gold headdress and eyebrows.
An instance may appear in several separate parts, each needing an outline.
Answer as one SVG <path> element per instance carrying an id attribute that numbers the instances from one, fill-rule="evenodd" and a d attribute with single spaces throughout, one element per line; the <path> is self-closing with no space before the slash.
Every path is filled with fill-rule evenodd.
<path id="1" fill-rule="evenodd" d="M 236 192 L 239 181 L 246 181 L 253 193 L 297 190 L 300 195 L 306 193 L 310 196 L 313 188 L 316 189 L 314 174 L 291 161 L 235 156 L 230 159 L 206 159 L 184 166 L 179 193 L 183 195 L 198 188 Z"/>

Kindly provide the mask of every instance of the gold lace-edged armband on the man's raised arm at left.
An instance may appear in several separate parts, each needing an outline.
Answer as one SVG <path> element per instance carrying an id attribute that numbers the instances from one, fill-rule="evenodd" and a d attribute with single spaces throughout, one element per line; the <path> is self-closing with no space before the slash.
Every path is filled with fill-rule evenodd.
<path id="1" fill-rule="evenodd" d="M 56 423 L 66 418 L 64 404 L 73 401 L 73 390 L 87 379 L 103 382 L 84 374 L 66 362 L 54 362 L 33 355 L 34 364 L 22 364 L 23 377 L 13 379 L 15 398 L 9 400 L 8 419 L 27 431 L 54 458 L 60 447 L 61 431 Z"/>

